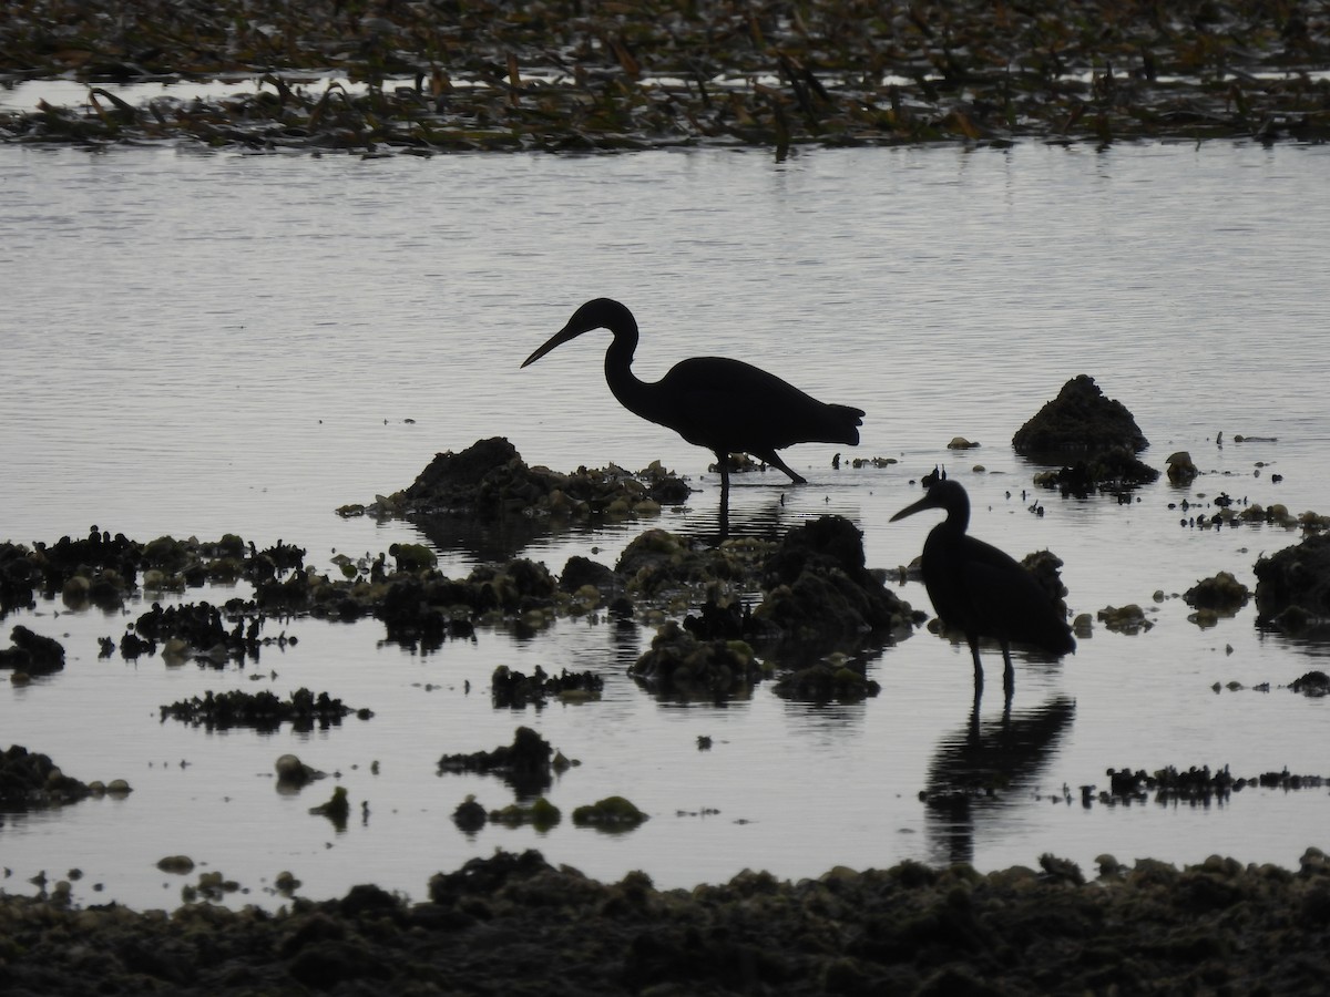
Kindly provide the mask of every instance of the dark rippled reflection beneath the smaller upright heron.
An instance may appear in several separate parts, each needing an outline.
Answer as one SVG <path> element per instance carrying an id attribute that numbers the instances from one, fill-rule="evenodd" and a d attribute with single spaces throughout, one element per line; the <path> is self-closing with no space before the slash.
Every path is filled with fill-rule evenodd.
<path id="1" fill-rule="evenodd" d="M 1012 804 L 1028 803 L 1039 771 L 1053 756 L 1076 717 L 1076 701 L 1053 697 L 1000 719 L 970 720 L 938 744 L 924 790 L 930 861 L 974 861 L 975 837 L 992 831 Z"/>

